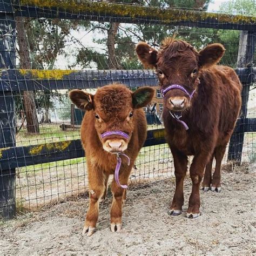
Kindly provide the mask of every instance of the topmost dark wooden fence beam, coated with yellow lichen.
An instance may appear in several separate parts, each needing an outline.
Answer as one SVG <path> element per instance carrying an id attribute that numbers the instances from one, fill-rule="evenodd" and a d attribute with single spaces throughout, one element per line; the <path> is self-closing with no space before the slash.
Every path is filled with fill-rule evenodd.
<path id="1" fill-rule="evenodd" d="M 19 0 L 16 16 L 64 18 L 99 22 L 151 23 L 199 28 L 256 31 L 256 18 L 138 4 L 78 0 Z"/>

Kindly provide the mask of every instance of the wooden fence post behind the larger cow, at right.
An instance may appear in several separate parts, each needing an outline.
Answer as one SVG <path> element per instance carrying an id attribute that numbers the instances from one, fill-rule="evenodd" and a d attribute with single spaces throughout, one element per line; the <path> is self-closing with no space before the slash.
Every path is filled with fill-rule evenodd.
<path id="1" fill-rule="evenodd" d="M 238 50 L 238 60 L 237 68 L 252 68 L 253 69 L 253 55 L 255 47 L 255 32 L 241 31 L 239 39 L 239 50 Z M 249 75 L 249 74 L 248 74 Z M 251 76 L 248 76 L 251 77 Z M 242 158 L 242 146 L 244 144 L 245 132 L 242 129 L 244 127 L 242 124 L 247 116 L 247 103 L 250 91 L 250 85 L 252 81 L 248 79 L 242 82 L 242 107 L 240 112 L 240 117 L 235 127 L 235 132 L 230 138 L 230 146 L 228 148 L 228 160 L 235 160 L 238 163 L 241 162 Z"/>

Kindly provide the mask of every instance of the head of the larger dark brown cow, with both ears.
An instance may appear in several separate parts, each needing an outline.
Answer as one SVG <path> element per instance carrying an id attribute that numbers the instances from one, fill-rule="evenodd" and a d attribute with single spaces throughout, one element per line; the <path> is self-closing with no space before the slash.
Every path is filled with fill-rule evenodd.
<path id="1" fill-rule="evenodd" d="M 221 44 L 210 44 L 198 52 L 187 42 L 166 38 L 159 51 L 140 42 L 136 52 L 145 67 L 156 69 L 161 89 L 166 89 L 164 106 L 181 112 L 191 105 L 191 96 L 200 83 L 200 70 L 218 63 L 225 49 Z"/>

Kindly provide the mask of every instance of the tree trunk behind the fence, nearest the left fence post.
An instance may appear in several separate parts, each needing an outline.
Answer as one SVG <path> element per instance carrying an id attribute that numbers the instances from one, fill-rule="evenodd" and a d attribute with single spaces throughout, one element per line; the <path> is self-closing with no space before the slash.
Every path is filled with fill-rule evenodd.
<path id="1" fill-rule="evenodd" d="M 16 17 L 20 66 L 21 69 L 30 69 L 29 45 L 28 41 L 26 40 L 25 23 L 27 23 L 26 18 Z M 23 92 L 23 107 L 26 116 L 26 127 L 28 129 L 28 133 L 39 133 L 35 93 L 33 91 Z"/>

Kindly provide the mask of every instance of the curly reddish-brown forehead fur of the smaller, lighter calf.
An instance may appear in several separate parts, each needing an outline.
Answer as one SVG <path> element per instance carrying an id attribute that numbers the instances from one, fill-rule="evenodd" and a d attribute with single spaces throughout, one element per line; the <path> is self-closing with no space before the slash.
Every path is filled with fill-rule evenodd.
<path id="1" fill-rule="evenodd" d="M 131 91 L 125 85 L 113 84 L 97 90 L 93 98 L 95 110 L 106 116 L 119 116 L 132 109 Z"/>

